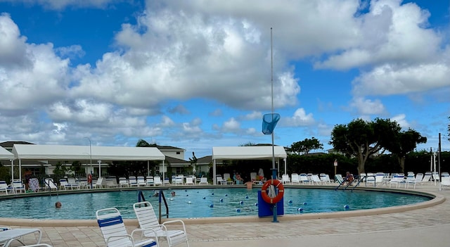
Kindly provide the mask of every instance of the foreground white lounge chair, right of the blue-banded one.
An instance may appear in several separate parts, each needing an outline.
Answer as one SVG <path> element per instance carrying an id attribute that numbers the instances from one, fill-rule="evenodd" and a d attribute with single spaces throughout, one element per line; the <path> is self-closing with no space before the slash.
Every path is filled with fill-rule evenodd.
<path id="1" fill-rule="evenodd" d="M 155 210 L 153 210 L 153 206 L 148 201 L 134 203 L 133 209 L 134 213 L 136 213 L 139 227 L 144 230 L 144 236 L 166 239 L 169 247 L 176 246 L 179 243 L 186 243 L 186 246 L 189 246 L 188 234 L 186 234 L 186 227 L 183 220 L 169 220 L 160 224 Z M 177 228 L 179 229 L 168 229 L 173 224 L 178 224 L 179 227 Z M 153 231 L 146 231 L 147 229 L 153 229 Z"/>

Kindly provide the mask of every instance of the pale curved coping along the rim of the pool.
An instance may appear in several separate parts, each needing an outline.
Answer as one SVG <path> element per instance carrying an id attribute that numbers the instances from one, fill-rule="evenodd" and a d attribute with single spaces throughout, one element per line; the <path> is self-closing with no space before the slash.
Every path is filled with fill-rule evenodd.
<path id="1" fill-rule="evenodd" d="M 224 188 L 224 186 L 202 186 L 213 187 L 213 188 Z M 233 186 L 231 186 L 233 187 Z M 174 187 L 161 187 L 162 189 L 174 189 Z M 176 186 L 176 189 L 182 188 L 192 188 L 192 186 Z M 285 188 L 308 188 L 308 189 L 335 189 L 335 186 L 293 186 L 285 185 Z M 123 188 L 122 188 L 123 189 Z M 148 187 L 146 187 L 148 189 Z M 128 190 L 128 189 L 127 189 Z M 364 191 L 386 191 L 386 192 L 397 192 L 406 194 L 416 194 L 420 196 L 428 196 L 432 198 L 430 201 L 425 201 L 422 203 L 415 203 L 411 205 L 399 205 L 388 208 L 374 208 L 366 210 L 348 210 L 340 212 L 330 212 L 330 213 L 305 213 L 300 215 L 278 215 L 278 220 L 311 220 L 311 219 L 332 219 L 340 217 L 358 217 L 364 215 L 380 215 L 389 213 L 401 213 L 409 210 L 418 210 L 421 208 L 429 208 L 434 205 L 439 205 L 444 203 L 446 198 L 442 195 L 435 194 L 432 192 L 425 192 L 420 190 L 407 190 L 407 189 L 390 189 L 390 188 L 376 188 L 376 187 L 359 187 L 355 190 Z M 96 191 L 90 192 L 105 192 L 105 191 L 117 191 L 117 189 L 98 189 Z M 75 191 L 73 191 L 75 192 Z M 82 193 L 82 191 L 77 191 Z M 47 192 L 48 193 L 48 192 Z M 67 193 L 67 192 L 65 192 Z M 64 193 L 64 194 L 65 194 Z M 40 194 L 40 193 L 39 193 Z M 37 194 L 34 194 L 37 196 Z M 2 196 L 3 197 L 3 196 Z M 7 196 L 10 198 L 9 196 Z M 17 197 L 17 196 L 15 196 Z M 14 197 L 14 198 L 15 198 Z M 167 220 L 183 220 L 185 224 L 214 224 L 214 223 L 233 223 L 233 222 L 271 222 L 273 217 L 257 217 L 257 216 L 242 216 L 242 217 L 199 217 L 199 218 L 165 218 L 162 222 Z M 136 219 L 124 219 L 124 223 L 127 226 L 139 226 Z M 15 225 L 24 227 L 97 227 L 98 223 L 96 220 L 46 220 L 46 219 L 23 219 L 23 218 L 0 218 L 0 224 L 4 225 Z"/>

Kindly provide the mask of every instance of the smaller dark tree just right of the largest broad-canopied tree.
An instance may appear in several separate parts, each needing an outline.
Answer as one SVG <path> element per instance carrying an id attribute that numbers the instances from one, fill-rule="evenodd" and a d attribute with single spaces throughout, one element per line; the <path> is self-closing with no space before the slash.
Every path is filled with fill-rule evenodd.
<path id="1" fill-rule="evenodd" d="M 401 172 L 405 172 L 406 155 L 416 148 L 417 144 L 424 144 L 427 142 L 427 137 L 422 137 L 413 129 L 408 129 L 405 132 L 398 132 L 392 136 L 385 144 L 387 151 L 397 155 Z"/>

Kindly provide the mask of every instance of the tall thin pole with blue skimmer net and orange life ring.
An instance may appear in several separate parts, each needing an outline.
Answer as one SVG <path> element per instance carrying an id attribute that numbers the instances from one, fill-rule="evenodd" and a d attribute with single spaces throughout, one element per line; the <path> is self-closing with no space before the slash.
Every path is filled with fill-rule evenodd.
<path id="1" fill-rule="evenodd" d="M 271 134 L 272 137 L 272 178 L 263 184 L 261 188 L 261 197 L 266 203 L 271 204 L 271 211 L 274 213 L 274 220 L 272 220 L 272 222 L 278 222 L 276 218 L 278 214 L 277 203 L 283 199 L 284 186 L 281 181 L 276 179 L 277 170 L 275 167 L 274 129 L 278 120 L 280 120 L 280 114 L 274 113 L 274 55 L 272 52 L 272 28 L 270 28 L 270 57 L 272 111 L 271 113 L 264 114 L 262 118 L 262 133 Z M 262 203 L 259 203 L 259 212 L 263 210 L 263 205 L 261 204 Z"/>

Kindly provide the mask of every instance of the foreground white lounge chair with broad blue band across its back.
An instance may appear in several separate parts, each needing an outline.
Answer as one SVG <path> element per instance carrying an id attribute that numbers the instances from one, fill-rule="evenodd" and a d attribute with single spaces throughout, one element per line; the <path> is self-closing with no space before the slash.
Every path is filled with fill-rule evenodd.
<path id="1" fill-rule="evenodd" d="M 101 229 L 103 239 L 108 247 L 122 247 L 122 246 L 159 246 L 158 238 L 144 239 L 140 241 L 134 240 L 134 233 L 139 232 L 143 234 L 143 229 L 135 229 L 131 234 L 128 234 L 127 228 L 122 220 L 117 208 L 105 208 L 97 210 L 96 212 L 98 227 Z M 152 229 L 146 229 L 147 232 L 153 232 Z"/>

